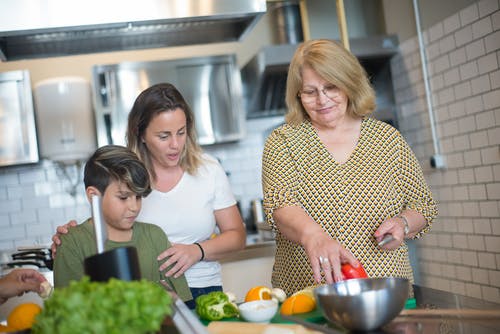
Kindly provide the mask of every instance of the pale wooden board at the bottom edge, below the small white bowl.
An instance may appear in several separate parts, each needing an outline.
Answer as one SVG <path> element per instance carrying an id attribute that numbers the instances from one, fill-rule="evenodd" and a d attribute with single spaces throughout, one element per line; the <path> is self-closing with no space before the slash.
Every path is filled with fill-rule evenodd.
<path id="1" fill-rule="evenodd" d="M 212 321 L 207 330 L 210 334 L 317 334 L 297 324 L 260 324 L 238 321 Z"/>

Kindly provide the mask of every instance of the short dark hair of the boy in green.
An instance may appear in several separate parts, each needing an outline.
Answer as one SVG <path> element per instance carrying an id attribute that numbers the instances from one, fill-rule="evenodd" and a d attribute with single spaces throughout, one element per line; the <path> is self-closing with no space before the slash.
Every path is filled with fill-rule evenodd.
<path id="1" fill-rule="evenodd" d="M 149 173 L 137 155 L 126 147 L 106 145 L 98 148 L 85 164 L 85 188 L 96 187 L 101 194 L 112 181 L 125 183 L 138 196 L 151 192 Z"/>

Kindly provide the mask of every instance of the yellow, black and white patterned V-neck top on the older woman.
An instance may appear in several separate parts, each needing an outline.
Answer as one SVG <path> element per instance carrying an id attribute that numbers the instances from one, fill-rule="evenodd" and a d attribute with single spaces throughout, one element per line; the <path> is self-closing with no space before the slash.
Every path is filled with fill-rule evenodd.
<path id="1" fill-rule="evenodd" d="M 262 183 L 266 219 L 276 231 L 273 287 L 290 295 L 315 284 L 304 248 L 282 235 L 273 221 L 273 210 L 287 206 L 302 207 L 361 261 L 370 277 L 413 282 L 407 245 L 381 250 L 373 236 L 384 220 L 413 209 L 427 220 L 418 238 L 437 214 L 420 165 L 395 128 L 363 118 L 356 148 L 339 164 L 309 121 L 282 125 L 266 141 Z"/>

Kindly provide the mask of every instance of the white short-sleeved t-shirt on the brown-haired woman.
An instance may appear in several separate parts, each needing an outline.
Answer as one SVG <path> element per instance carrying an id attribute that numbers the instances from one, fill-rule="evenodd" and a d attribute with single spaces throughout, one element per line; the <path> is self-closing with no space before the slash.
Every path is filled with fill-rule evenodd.
<path id="1" fill-rule="evenodd" d="M 168 192 L 153 190 L 142 200 L 138 221 L 160 226 L 171 243 L 192 244 L 210 238 L 215 232 L 214 211 L 236 204 L 222 166 L 208 154 L 197 175 L 184 173 Z M 185 273 L 189 287 L 222 285 L 217 261 L 195 263 Z"/>

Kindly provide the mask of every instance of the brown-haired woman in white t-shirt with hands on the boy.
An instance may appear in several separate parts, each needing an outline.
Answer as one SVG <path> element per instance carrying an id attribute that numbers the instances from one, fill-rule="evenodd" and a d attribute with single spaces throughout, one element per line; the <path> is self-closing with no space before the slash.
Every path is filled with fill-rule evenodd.
<path id="1" fill-rule="evenodd" d="M 185 274 L 193 298 L 222 291 L 217 260 L 245 247 L 245 227 L 224 170 L 198 145 L 193 112 L 173 85 L 157 84 L 137 97 L 127 146 L 153 184 L 137 220 L 162 227 L 172 243 L 158 257 L 169 258 L 160 270 L 174 264 L 166 275 Z M 57 232 L 67 233 L 67 226 Z M 52 239 L 54 251 L 60 241 L 57 234 Z"/>

